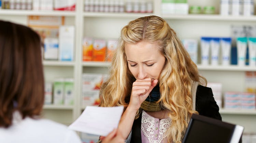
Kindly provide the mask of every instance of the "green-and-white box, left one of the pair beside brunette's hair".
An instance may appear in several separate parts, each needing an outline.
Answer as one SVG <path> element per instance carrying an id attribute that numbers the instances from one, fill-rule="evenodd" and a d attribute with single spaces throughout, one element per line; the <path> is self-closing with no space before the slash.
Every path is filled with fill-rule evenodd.
<path id="1" fill-rule="evenodd" d="M 64 97 L 64 79 L 63 78 L 60 78 L 54 81 L 53 90 L 54 90 L 54 94 L 53 94 L 54 105 L 63 105 L 63 97 Z"/>

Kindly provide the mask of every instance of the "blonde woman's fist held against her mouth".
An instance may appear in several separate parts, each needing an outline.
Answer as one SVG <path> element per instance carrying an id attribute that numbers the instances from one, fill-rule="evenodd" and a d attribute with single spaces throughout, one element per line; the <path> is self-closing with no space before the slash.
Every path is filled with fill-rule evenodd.
<path id="1" fill-rule="evenodd" d="M 132 84 L 131 98 L 129 103 L 130 108 L 137 111 L 142 102 L 146 100 L 149 93 L 157 85 L 157 82 L 157 79 L 152 79 L 150 77 L 137 79 Z"/>

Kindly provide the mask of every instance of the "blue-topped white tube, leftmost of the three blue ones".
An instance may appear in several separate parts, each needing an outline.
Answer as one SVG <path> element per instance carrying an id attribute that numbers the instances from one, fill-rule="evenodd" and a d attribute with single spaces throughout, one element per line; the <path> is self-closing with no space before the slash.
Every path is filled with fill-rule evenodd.
<path id="1" fill-rule="evenodd" d="M 201 37 L 201 63 L 209 65 L 210 37 Z"/>

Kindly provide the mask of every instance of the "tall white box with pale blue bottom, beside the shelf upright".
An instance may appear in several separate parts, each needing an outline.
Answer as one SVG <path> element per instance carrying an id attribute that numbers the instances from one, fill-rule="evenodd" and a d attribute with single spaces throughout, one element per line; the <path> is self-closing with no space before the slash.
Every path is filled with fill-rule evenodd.
<path id="1" fill-rule="evenodd" d="M 60 26 L 59 28 L 59 60 L 73 61 L 74 26 Z"/>

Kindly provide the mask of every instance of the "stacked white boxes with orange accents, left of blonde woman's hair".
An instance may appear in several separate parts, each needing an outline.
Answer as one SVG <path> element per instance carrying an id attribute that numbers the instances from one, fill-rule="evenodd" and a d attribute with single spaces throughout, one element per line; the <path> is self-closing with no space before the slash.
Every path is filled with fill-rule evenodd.
<path id="1" fill-rule="evenodd" d="M 99 90 L 107 78 L 106 74 L 83 74 L 82 106 L 98 106 L 100 104 Z"/>

